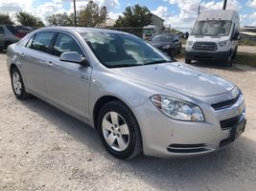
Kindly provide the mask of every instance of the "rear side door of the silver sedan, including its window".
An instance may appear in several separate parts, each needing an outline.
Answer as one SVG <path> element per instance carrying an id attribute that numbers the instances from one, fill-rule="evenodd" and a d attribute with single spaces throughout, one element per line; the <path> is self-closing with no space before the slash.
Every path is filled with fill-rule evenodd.
<path id="1" fill-rule="evenodd" d="M 36 33 L 20 56 L 26 86 L 39 96 L 46 96 L 44 73 L 50 64 L 50 44 L 54 36 L 55 32 Z"/>

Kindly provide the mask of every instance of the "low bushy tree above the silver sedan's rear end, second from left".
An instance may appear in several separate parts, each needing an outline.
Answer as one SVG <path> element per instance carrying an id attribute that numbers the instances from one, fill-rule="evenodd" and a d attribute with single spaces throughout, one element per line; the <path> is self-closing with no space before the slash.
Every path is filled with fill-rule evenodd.
<path id="1" fill-rule="evenodd" d="M 40 20 L 40 18 L 24 11 L 17 12 L 15 14 L 17 21 L 21 25 L 26 25 L 30 27 L 43 27 L 44 23 Z"/>

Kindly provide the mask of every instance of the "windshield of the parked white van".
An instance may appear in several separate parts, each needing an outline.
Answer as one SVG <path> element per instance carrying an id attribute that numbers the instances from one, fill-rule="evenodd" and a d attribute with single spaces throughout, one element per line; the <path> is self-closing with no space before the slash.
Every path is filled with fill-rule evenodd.
<path id="1" fill-rule="evenodd" d="M 230 28 L 231 21 L 227 20 L 198 21 L 192 34 L 202 36 L 226 36 L 230 32 Z"/>

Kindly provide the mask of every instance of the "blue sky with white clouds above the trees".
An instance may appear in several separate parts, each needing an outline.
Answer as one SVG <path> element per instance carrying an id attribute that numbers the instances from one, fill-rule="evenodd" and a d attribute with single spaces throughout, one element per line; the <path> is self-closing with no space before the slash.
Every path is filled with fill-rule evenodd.
<path id="1" fill-rule="evenodd" d="M 84 8 L 89 0 L 76 0 L 77 8 Z M 165 19 L 172 27 L 192 27 L 201 11 L 221 9 L 221 0 L 94 0 L 106 6 L 109 18 L 117 18 L 127 6 L 147 6 L 151 12 Z M 256 26 L 256 0 L 227 0 L 227 9 L 240 13 L 242 25 Z M 13 15 L 16 11 L 28 11 L 45 21 L 52 13 L 72 12 L 73 0 L 0 0 L 0 13 Z"/>

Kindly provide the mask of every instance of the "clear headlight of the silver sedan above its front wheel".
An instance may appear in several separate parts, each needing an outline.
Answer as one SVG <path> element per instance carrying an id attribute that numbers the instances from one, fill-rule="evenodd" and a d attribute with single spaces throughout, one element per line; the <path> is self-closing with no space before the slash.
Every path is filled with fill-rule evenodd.
<path id="1" fill-rule="evenodd" d="M 204 121 L 201 109 L 193 104 L 170 96 L 151 96 L 152 103 L 166 116 L 187 121 Z"/>

